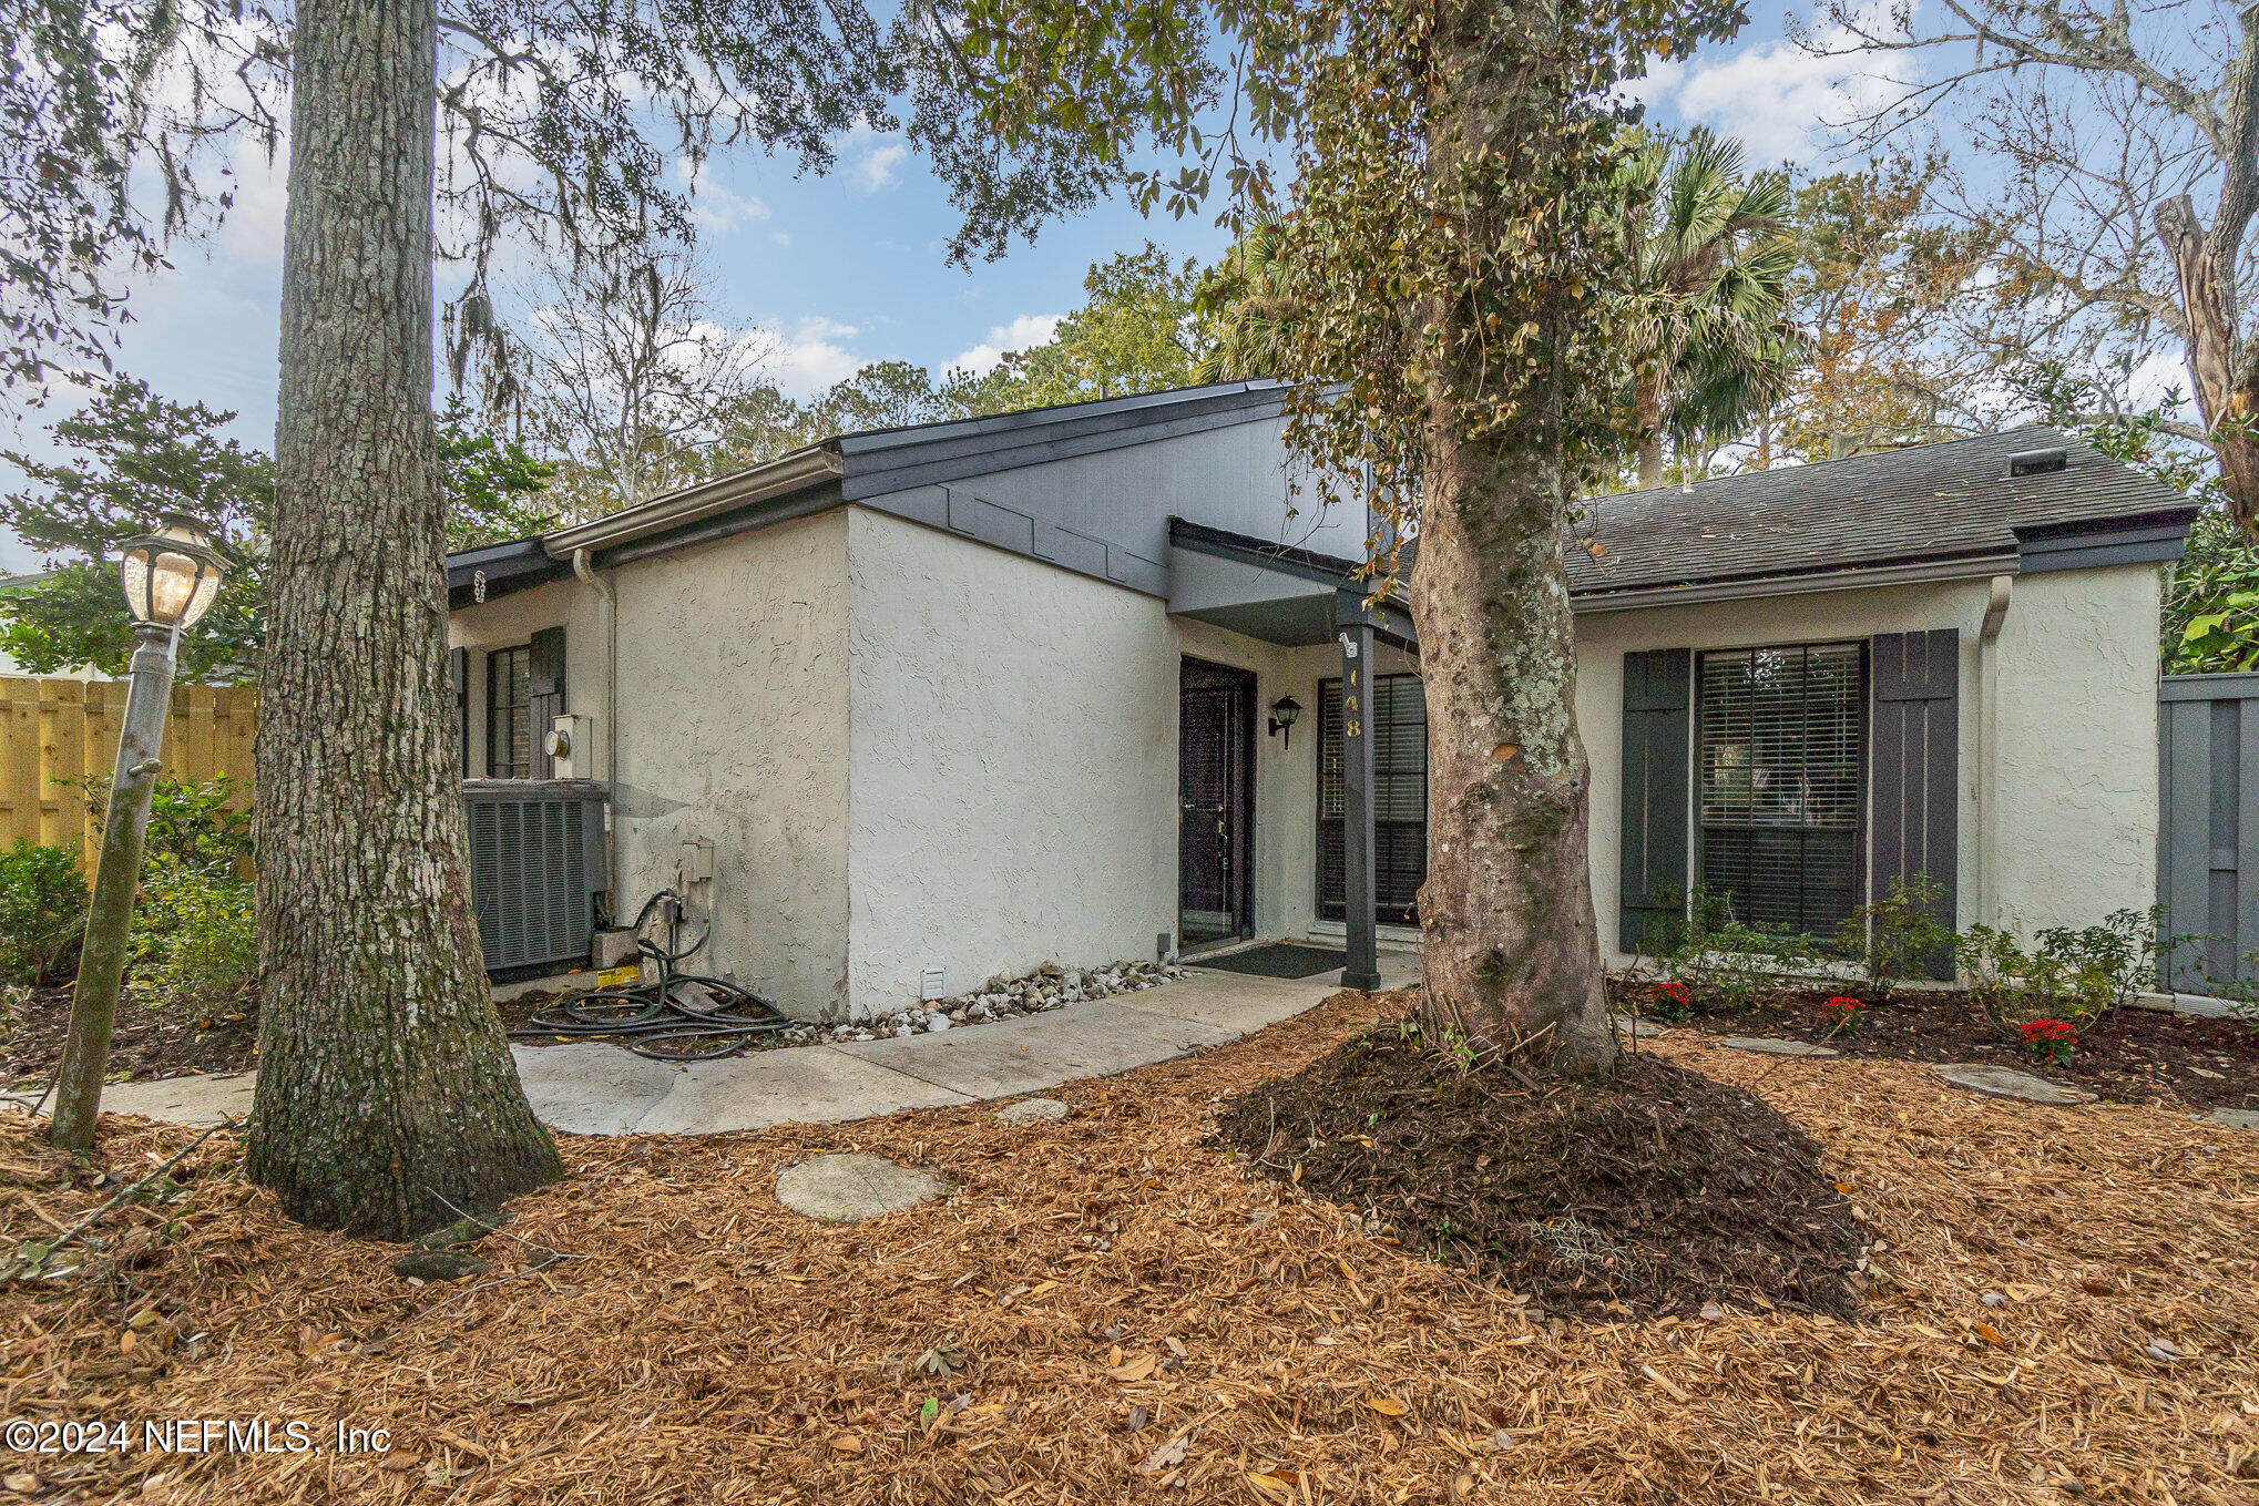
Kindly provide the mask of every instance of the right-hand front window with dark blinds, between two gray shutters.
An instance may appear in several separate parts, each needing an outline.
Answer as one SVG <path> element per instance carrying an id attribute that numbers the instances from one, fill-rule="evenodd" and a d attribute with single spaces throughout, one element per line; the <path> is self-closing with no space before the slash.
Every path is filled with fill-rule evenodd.
<path id="1" fill-rule="evenodd" d="M 1859 905 L 1866 646 L 1699 664 L 1701 883 L 1746 926 L 1828 935 Z"/>

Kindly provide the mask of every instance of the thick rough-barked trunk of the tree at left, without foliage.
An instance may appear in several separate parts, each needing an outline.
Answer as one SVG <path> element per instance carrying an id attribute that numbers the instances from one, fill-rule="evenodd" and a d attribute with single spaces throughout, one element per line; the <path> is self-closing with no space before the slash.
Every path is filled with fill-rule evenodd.
<path id="1" fill-rule="evenodd" d="M 470 919 L 431 422 L 434 0 L 305 0 L 258 736 L 251 1176 L 409 1237 L 558 1174 Z"/>

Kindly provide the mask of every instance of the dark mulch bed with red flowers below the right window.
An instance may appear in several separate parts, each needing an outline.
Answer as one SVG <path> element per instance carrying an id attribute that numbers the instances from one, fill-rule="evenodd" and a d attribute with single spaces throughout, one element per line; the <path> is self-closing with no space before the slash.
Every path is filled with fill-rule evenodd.
<path id="1" fill-rule="evenodd" d="M 1617 1009 L 1631 1007 L 1631 987 L 1613 982 L 1608 991 Z M 2038 1061 L 2013 1027 L 1983 1018 L 1959 993 L 1907 991 L 1864 1007 L 1859 1027 L 1839 1034 L 1818 1007 L 1823 998 L 1825 991 L 1782 993 L 1735 1012 L 1697 996 L 1683 1023 L 1728 1036 L 1825 1041 L 1846 1057 L 2015 1066 L 2114 1104 L 2259 1109 L 2259 1027 L 2248 1021 L 2114 1009 L 2078 1034 L 2078 1050 L 2067 1061 Z M 1651 1009 L 1642 1014 L 1654 1018 Z"/>

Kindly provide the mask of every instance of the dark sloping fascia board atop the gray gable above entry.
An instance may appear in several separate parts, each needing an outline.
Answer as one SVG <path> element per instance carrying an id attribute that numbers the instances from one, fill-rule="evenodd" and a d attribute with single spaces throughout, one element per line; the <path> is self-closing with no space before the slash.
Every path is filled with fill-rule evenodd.
<path id="1" fill-rule="evenodd" d="M 836 440 L 843 463 L 840 494 L 847 501 L 865 501 L 919 485 L 1251 424 L 1276 418 L 1285 406 L 1285 391 L 1270 384 L 1236 384 L 1222 391 L 1190 388 L 1001 413 L 931 429 L 852 434 Z"/>

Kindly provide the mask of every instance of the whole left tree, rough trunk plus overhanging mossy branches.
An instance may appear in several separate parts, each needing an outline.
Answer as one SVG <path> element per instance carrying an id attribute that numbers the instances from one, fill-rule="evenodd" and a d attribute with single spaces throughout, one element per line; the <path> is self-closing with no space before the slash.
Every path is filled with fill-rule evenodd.
<path id="1" fill-rule="evenodd" d="M 447 732 L 434 260 L 463 269 L 445 321 L 461 370 L 508 350 L 486 287 L 497 244 L 623 260 L 653 237 L 691 239 L 689 192 L 714 149 L 766 145 L 829 167 L 849 129 L 897 129 L 888 106 L 908 93 L 906 131 L 965 210 L 958 260 L 1087 203 L 1118 167 L 1071 138 L 998 145 L 965 108 L 974 63 L 951 16 L 924 5 L 883 27 L 852 0 L 104 0 L 68 41 L 32 59 L 59 72 L 54 88 L 11 75 L 0 108 L 47 97 L 90 111 L 79 138 L 111 158 L 61 205 L 20 183 L 0 192 L 47 210 L 27 219 L 36 235 L 77 226 L 90 264 L 149 244 L 131 203 L 111 219 L 99 203 L 127 190 L 136 145 L 185 196 L 163 224 L 192 228 L 192 210 L 208 221 L 224 196 L 197 199 L 187 158 L 228 129 L 276 145 L 287 97 L 246 1161 L 298 1219 L 413 1235 L 558 1170 L 470 921 Z M 113 88 L 120 70 L 140 88 Z M 181 88 L 158 88 L 167 72 Z M 197 120 L 154 129 L 160 99 Z M 673 172 L 684 160 L 691 172 Z M 0 233 L 16 237 L 9 208 Z M 11 307 L 18 368 L 45 359 L 34 345 L 86 348 L 115 316 L 72 307 L 23 321 Z"/>

